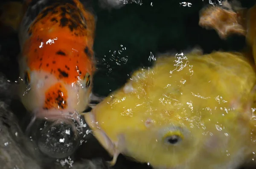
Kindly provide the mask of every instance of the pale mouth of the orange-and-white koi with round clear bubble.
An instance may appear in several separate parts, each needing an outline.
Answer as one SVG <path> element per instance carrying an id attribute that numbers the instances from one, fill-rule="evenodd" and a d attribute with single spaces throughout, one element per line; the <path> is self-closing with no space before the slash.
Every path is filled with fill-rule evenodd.
<path id="1" fill-rule="evenodd" d="M 67 158 L 78 148 L 82 138 L 83 122 L 78 112 L 34 111 L 35 117 L 29 123 L 32 128 L 35 119 L 44 119 L 42 123 L 35 123 L 33 131 L 37 140 L 39 150 L 51 158 Z"/>

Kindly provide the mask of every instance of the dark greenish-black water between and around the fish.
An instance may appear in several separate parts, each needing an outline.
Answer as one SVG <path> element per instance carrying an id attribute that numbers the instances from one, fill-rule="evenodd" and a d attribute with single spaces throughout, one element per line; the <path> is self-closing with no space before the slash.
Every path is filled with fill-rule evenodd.
<path id="1" fill-rule="evenodd" d="M 6 1 L 1 0 L 1 3 Z M 209 0 L 187 0 L 192 3 L 191 7 L 180 6 L 183 1 L 143 0 L 142 5 L 129 3 L 121 9 L 112 10 L 101 9 L 97 0 L 93 1 L 93 10 L 97 16 L 94 50 L 98 71 L 93 82 L 96 94 L 108 95 L 122 86 L 135 69 L 151 66 L 152 61 L 148 60 L 151 53 L 154 56 L 163 52 L 180 53 L 195 46 L 200 46 L 205 53 L 213 50 L 239 51 L 245 46 L 242 36 L 233 35 L 221 40 L 214 30 L 198 26 L 199 11 L 209 5 Z M 217 0 L 212 2 L 218 3 Z M 243 7 L 249 8 L 256 1 L 240 2 Z M 16 57 L 19 52 L 17 34 L 0 32 L 0 72 L 11 81 L 18 78 Z M 76 157 L 107 156 L 96 140 L 90 139 L 78 149 Z M 124 160 L 122 156 L 115 166 L 116 169 L 141 167 Z"/>

